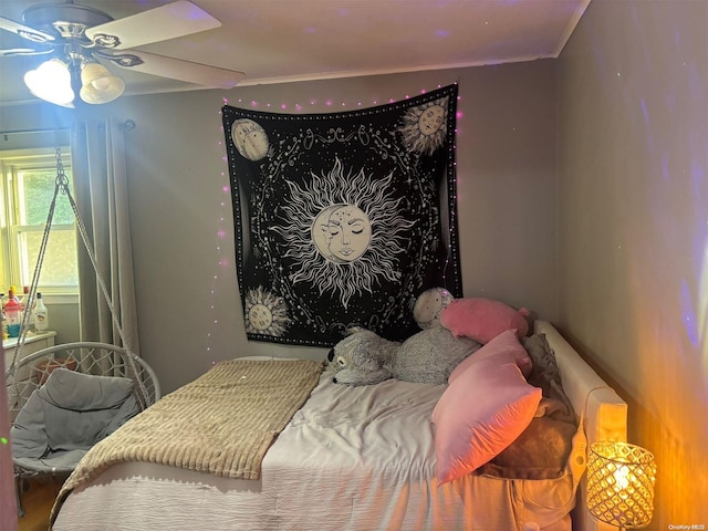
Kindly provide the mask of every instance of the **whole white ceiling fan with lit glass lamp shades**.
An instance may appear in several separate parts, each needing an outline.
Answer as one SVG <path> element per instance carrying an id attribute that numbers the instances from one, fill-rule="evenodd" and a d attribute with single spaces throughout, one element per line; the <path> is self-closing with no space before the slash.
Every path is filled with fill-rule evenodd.
<path id="1" fill-rule="evenodd" d="M 21 23 L 0 17 L 0 29 L 31 42 L 31 48 L 0 50 L 0 56 L 48 55 L 48 61 L 24 75 L 24 82 L 35 96 L 63 106 L 73 106 L 74 88 L 84 102 L 92 104 L 108 103 L 123 93 L 123 80 L 102 63 L 214 88 L 231 88 L 243 79 L 242 72 L 135 50 L 220 25 L 221 22 L 187 0 L 117 20 L 73 0 L 39 3 L 22 12 Z"/>

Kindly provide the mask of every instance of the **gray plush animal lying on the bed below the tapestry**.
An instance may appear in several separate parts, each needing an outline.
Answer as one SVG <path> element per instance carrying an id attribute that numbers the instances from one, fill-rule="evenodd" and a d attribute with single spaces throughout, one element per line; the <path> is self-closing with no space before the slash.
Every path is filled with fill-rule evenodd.
<path id="1" fill-rule="evenodd" d="M 442 327 L 423 330 L 403 343 L 353 329 L 327 357 L 337 384 L 369 385 L 388 378 L 446 384 L 452 369 L 481 346 L 469 337 L 455 337 Z"/>

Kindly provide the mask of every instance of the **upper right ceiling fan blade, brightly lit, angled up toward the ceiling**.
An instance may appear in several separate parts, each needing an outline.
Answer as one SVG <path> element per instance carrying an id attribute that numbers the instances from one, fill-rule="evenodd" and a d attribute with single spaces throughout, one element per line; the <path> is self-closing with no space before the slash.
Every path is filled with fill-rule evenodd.
<path id="1" fill-rule="evenodd" d="M 86 29 L 100 45 L 125 50 L 189 35 L 221 25 L 217 19 L 187 0 L 168 3 L 131 17 Z M 115 44 L 115 38 L 118 43 Z"/>

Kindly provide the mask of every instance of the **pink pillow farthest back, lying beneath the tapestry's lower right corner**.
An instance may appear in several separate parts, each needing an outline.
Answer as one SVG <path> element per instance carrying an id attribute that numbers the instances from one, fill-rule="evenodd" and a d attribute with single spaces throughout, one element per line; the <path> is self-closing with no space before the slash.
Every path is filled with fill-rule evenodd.
<path id="1" fill-rule="evenodd" d="M 489 299 L 457 299 L 440 314 L 440 323 L 456 336 L 471 337 L 485 344 L 504 330 L 517 329 L 519 335 L 529 333 L 525 308 L 514 310 L 499 301 Z"/>

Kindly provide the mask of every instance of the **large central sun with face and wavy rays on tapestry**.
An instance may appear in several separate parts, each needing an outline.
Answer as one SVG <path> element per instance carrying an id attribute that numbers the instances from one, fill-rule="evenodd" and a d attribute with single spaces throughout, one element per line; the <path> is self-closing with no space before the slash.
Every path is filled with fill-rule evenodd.
<path id="1" fill-rule="evenodd" d="M 271 230 L 287 244 L 293 284 L 316 287 L 320 296 L 336 296 L 346 309 L 373 284 L 397 281 L 397 257 L 413 223 L 398 214 L 402 199 L 387 196 L 391 179 L 347 173 L 335 159 L 331 171 L 312 175 L 312 186 L 291 185 L 292 202 Z"/>

